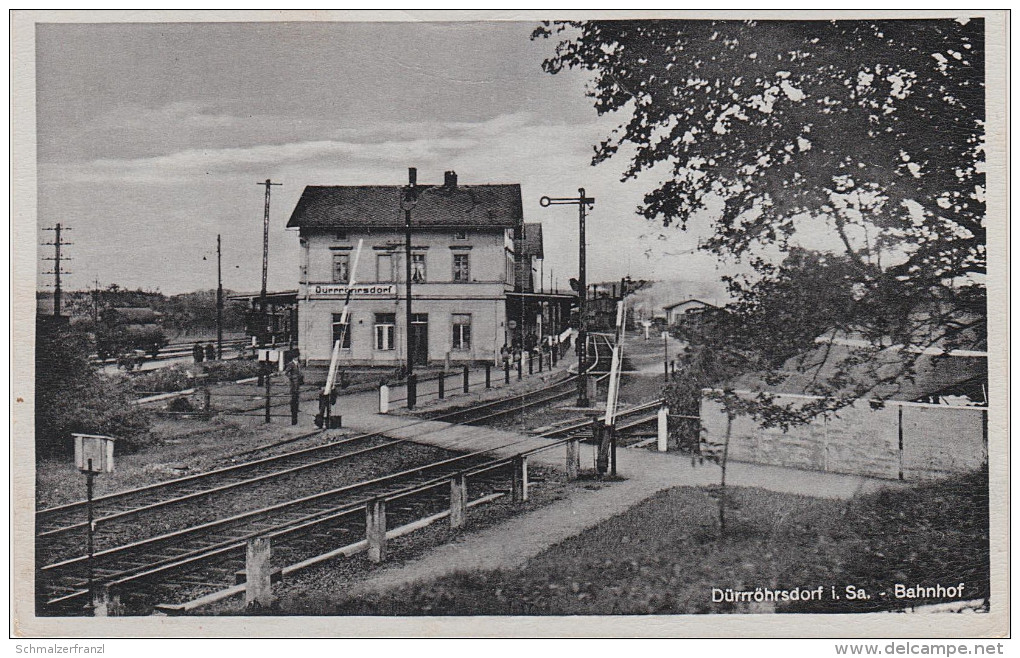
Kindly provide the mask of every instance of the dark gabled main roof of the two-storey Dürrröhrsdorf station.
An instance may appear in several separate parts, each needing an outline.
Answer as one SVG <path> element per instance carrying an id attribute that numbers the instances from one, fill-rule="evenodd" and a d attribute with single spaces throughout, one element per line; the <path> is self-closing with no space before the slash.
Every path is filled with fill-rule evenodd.
<path id="1" fill-rule="evenodd" d="M 397 185 L 308 186 L 287 222 L 306 229 L 403 229 Z M 414 226 L 510 229 L 524 217 L 520 185 L 418 186 Z"/>

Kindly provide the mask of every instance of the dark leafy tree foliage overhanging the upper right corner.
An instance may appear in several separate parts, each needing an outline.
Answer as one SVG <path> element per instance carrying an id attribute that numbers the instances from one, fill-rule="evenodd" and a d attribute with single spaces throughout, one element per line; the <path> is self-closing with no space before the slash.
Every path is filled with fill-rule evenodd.
<path id="1" fill-rule="evenodd" d="M 559 39 L 544 68 L 592 71 L 596 109 L 622 117 L 593 163 L 626 153 L 624 181 L 664 176 L 639 212 L 685 229 L 707 211 L 704 248 L 752 265 L 695 342 L 774 373 L 826 334 L 871 353 L 983 349 L 983 29 L 608 20 L 532 38 Z"/>

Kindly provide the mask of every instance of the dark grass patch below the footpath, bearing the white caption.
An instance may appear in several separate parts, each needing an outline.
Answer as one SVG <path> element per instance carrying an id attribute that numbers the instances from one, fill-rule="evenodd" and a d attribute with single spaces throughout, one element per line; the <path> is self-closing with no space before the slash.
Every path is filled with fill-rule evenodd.
<path id="1" fill-rule="evenodd" d="M 554 546 L 524 567 L 460 572 L 362 596 L 313 597 L 345 615 L 602 615 L 865 612 L 934 603 L 896 600 L 896 583 L 967 584 L 988 595 L 986 472 L 851 501 L 731 488 L 726 533 L 718 497 L 681 487 Z M 838 601 L 848 585 L 870 600 Z M 713 602 L 712 590 L 824 587 L 819 602 Z M 879 593 L 885 592 L 886 596 Z M 306 598 L 307 601 L 307 598 Z"/>

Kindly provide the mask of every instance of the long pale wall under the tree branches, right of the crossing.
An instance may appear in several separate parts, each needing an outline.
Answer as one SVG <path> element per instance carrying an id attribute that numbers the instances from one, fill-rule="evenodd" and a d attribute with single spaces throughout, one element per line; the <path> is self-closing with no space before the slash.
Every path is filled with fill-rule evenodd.
<path id="1" fill-rule="evenodd" d="M 798 404 L 806 396 L 776 396 Z M 737 416 L 730 427 L 729 458 L 891 479 L 931 479 L 978 468 L 987 458 L 984 410 L 917 403 L 872 408 L 860 401 L 837 415 L 783 432 Z M 702 399 L 703 441 L 721 446 L 726 415 L 719 402 Z M 900 436 L 903 433 L 901 449 Z"/>

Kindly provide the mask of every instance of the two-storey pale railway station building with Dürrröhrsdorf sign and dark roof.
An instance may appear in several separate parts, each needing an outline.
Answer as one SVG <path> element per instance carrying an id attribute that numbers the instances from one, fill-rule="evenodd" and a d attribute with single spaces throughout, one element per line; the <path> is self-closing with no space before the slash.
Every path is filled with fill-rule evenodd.
<path id="1" fill-rule="evenodd" d="M 399 366 L 409 358 L 416 366 L 495 362 L 515 337 L 562 331 L 573 298 L 533 294 L 541 226 L 528 243 L 520 185 L 460 185 L 447 171 L 442 185 L 416 191 L 408 327 L 406 187 L 305 188 L 287 225 L 300 236 L 297 334 L 310 363 L 327 362 L 338 340 L 345 365 Z M 550 303 L 557 312 L 549 311 Z"/>

